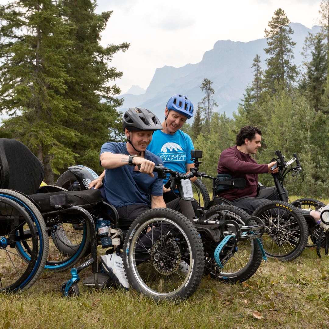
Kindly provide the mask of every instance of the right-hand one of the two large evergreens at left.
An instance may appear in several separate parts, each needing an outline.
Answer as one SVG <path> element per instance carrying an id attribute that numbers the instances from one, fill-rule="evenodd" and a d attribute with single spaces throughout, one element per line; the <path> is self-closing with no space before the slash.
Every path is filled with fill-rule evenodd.
<path id="1" fill-rule="evenodd" d="M 71 47 L 67 53 L 65 68 L 73 78 L 65 96 L 78 101 L 81 107 L 76 117 L 68 118 L 66 125 L 81 133 L 78 141 L 68 141 L 68 146 L 79 154 L 79 163 L 100 169 L 99 151 L 108 140 L 118 141 L 123 137 L 122 114 L 116 108 L 123 100 L 115 95 L 120 93 L 112 81 L 122 72 L 108 67 L 113 55 L 125 51 L 128 43 L 99 44 L 101 32 L 106 28 L 111 12 L 96 14 L 96 1 L 64 0 L 64 14 L 72 26 Z"/>

